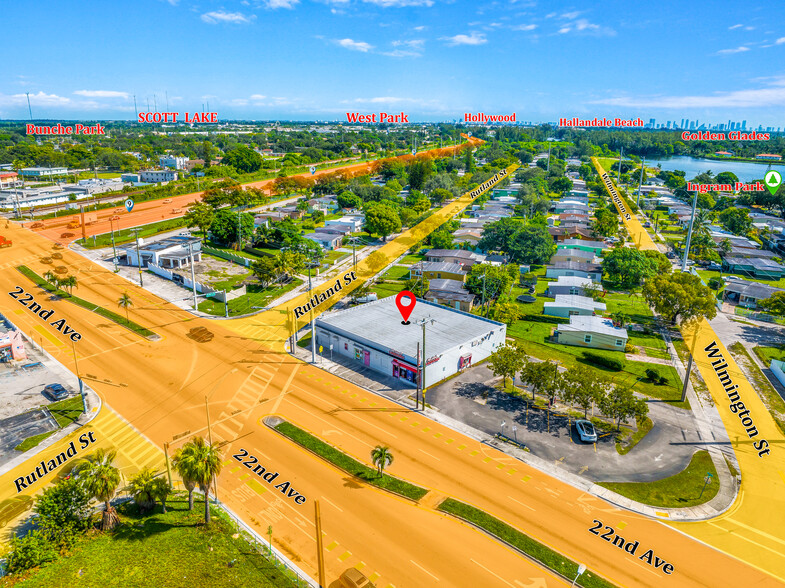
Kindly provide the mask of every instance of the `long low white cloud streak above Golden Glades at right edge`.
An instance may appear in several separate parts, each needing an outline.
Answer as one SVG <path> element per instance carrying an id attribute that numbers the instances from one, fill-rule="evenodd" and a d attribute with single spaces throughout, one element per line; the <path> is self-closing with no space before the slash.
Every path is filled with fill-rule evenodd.
<path id="1" fill-rule="evenodd" d="M 785 106 L 785 78 L 771 82 L 769 88 L 718 92 L 711 96 L 622 97 L 596 100 L 592 104 L 609 104 L 630 108 L 756 108 Z"/>

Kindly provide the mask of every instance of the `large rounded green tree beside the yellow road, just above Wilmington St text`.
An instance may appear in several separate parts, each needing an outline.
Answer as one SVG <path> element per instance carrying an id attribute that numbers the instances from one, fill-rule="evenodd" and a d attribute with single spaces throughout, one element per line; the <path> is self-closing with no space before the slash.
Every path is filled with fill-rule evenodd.
<path id="1" fill-rule="evenodd" d="M 643 297 L 656 312 L 681 324 L 717 315 L 715 297 L 700 277 L 687 272 L 655 275 L 643 284 Z"/>

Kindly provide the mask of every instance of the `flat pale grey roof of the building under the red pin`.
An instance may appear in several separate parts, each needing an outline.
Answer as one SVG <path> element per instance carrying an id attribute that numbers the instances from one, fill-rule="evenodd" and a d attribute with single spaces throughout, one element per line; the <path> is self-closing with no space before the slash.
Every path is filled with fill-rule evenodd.
<path id="1" fill-rule="evenodd" d="M 485 336 L 490 331 L 504 328 L 504 323 L 492 321 L 468 312 L 454 310 L 417 299 L 408 325 L 401 324 L 401 313 L 395 297 L 388 296 L 346 310 L 323 314 L 317 326 L 352 339 L 365 339 L 382 347 L 389 347 L 410 357 L 417 356 L 417 343 L 422 344 L 422 327 L 417 323 L 428 319 L 425 326 L 426 355 L 432 357 L 457 345 Z M 430 320 L 433 319 L 433 323 Z M 467 346 L 471 352 L 471 346 Z"/>

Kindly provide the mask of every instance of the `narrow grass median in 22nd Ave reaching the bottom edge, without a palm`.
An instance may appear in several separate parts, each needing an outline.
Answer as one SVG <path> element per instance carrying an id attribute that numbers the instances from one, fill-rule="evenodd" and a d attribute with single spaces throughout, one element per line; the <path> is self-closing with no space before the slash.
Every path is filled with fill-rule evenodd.
<path id="1" fill-rule="evenodd" d="M 535 541 L 525 533 L 520 532 L 486 513 L 485 511 L 475 508 L 454 498 L 447 498 L 439 505 L 439 510 L 447 514 L 460 517 L 473 525 L 480 527 L 486 533 L 489 533 L 501 539 L 527 554 L 529 557 L 537 560 L 542 565 L 551 570 L 561 574 L 566 578 L 574 578 L 578 573 L 578 564 L 574 561 L 567 559 L 562 554 L 554 551 Z M 607 580 L 597 576 L 591 571 L 586 571 L 578 578 L 577 586 L 584 586 L 585 588 L 613 588 L 615 584 L 611 584 Z"/>

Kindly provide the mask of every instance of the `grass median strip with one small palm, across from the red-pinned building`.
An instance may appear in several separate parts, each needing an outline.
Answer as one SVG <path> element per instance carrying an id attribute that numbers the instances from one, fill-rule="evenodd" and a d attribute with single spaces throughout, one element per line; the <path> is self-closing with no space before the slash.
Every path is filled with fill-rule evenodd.
<path id="1" fill-rule="evenodd" d="M 319 457 L 323 457 L 331 464 L 338 466 L 342 470 L 360 478 L 363 482 L 367 482 L 372 486 L 389 490 L 390 492 L 400 494 L 401 496 L 411 498 L 412 500 L 419 500 L 428 494 L 426 488 L 415 486 L 414 484 L 404 482 L 403 480 L 399 480 L 398 478 L 394 478 L 387 474 L 379 476 L 379 473 L 374 468 L 360 463 L 353 457 L 346 455 L 332 445 L 325 443 L 310 433 L 306 433 L 291 423 L 284 421 L 277 425 L 275 430 L 298 445 L 313 451 Z"/>

